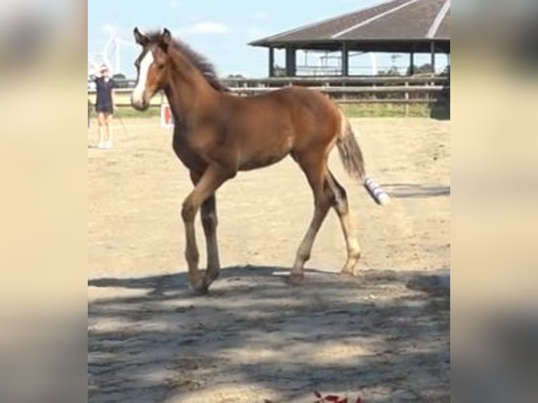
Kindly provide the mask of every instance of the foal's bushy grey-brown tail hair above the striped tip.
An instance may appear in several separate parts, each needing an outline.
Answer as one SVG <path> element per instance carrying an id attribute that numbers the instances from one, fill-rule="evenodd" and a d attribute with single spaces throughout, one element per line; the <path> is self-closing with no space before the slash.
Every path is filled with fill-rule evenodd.
<path id="1" fill-rule="evenodd" d="M 340 159 L 344 169 L 349 176 L 358 180 L 360 183 L 365 181 L 365 160 L 362 158 L 362 151 L 355 140 L 353 128 L 348 121 L 348 118 L 339 108 L 340 112 L 340 133 L 336 140 L 336 147 L 340 153 Z"/>

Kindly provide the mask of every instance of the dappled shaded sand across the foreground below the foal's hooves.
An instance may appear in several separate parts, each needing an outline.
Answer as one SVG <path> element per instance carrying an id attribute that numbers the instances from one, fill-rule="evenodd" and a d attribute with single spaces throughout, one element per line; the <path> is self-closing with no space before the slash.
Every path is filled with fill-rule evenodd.
<path id="1" fill-rule="evenodd" d="M 448 270 L 288 273 L 227 267 L 202 297 L 186 273 L 90 279 L 89 401 L 450 401 Z"/>

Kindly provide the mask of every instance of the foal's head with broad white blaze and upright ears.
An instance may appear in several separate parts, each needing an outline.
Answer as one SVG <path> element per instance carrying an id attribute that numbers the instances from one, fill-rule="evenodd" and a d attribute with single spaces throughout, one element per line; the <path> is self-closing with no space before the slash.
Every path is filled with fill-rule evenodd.
<path id="1" fill-rule="evenodd" d="M 168 48 L 172 37 L 166 28 L 157 39 L 146 37 L 134 29 L 136 43 L 142 46 L 142 52 L 135 62 L 137 78 L 136 87 L 131 95 L 131 105 L 136 110 L 147 110 L 150 100 L 166 85 L 169 69 Z"/>

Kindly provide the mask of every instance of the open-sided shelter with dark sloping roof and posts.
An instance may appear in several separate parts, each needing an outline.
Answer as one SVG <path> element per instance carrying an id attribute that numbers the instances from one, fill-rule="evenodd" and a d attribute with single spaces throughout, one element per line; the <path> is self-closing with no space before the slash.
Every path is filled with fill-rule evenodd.
<path id="1" fill-rule="evenodd" d="M 389 0 L 251 42 L 269 49 L 269 76 L 275 76 L 275 49 L 285 49 L 287 77 L 296 76 L 296 51 L 341 52 L 341 75 L 349 76 L 349 52 L 450 54 L 450 0 Z"/>

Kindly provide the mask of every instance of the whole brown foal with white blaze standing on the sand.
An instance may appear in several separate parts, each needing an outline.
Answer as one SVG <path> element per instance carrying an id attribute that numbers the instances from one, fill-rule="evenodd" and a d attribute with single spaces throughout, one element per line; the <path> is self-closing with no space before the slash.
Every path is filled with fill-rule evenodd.
<path id="1" fill-rule="evenodd" d="M 135 62 L 136 87 L 131 105 L 147 110 L 164 91 L 175 122 L 172 147 L 190 171 L 194 189 L 181 206 L 185 227 L 188 279 L 196 293 L 206 293 L 221 264 L 216 237 L 216 190 L 239 171 L 261 169 L 288 155 L 301 168 L 313 192 L 313 218 L 296 252 L 288 281 L 300 284 L 303 266 L 329 209 L 340 220 L 346 241 L 344 275 L 356 275 L 360 245 L 353 233 L 346 190 L 327 166 L 334 145 L 347 173 L 361 183 L 365 164 L 341 108 L 309 88 L 287 86 L 263 95 L 237 96 L 218 81 L 214 66 L 169 29 L 133 31 L 142 52 Z M 195 218 L 201 210 L 206 239 L 206 270 L 198 267 Z"/>

